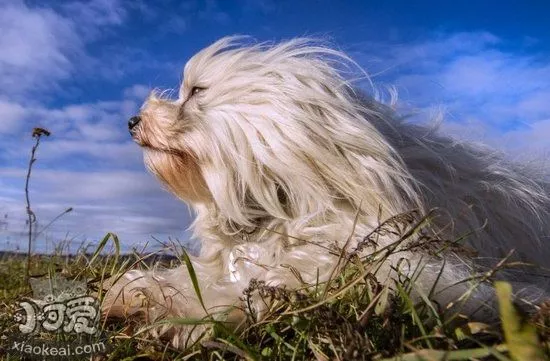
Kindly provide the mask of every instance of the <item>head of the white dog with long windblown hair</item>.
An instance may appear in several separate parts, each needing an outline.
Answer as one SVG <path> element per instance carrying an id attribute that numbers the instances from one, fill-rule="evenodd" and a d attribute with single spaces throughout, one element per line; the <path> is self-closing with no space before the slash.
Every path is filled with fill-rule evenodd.
<path id="1" fill-rule="evenodd" d="M 344 55 L 306 40 L 238 41 L 196 54 L 178 99 L 153 93 L 129 122 L 148 168 L 171 191 L 250 226 L 323 213 L 337 201 L 358 206 L 369 188 L 381 201 L 384 188 L 406 183 L 391 146 L 365 121 L 379 109 L 358 101 L 341 75 Z"/>

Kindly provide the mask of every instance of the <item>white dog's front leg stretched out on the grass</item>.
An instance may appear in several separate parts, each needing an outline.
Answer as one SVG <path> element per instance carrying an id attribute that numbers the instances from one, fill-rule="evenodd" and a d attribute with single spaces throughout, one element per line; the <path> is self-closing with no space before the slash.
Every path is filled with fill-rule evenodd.
<path id="1" fill-rule="evenodd" d="M 106 317 L 137 319 L 155 338 L 185 348 L 208 334 L 214 322 L 234 327 L 243 313 L 237 307 L 241 291 L 231 282 L 216 276 L 220 266 L 193 258 L 182 265 L 162 271 L 132 270 L 112 286 L 103 300 Z M 108 281 L 109 282 L 109 281 Z"/>

